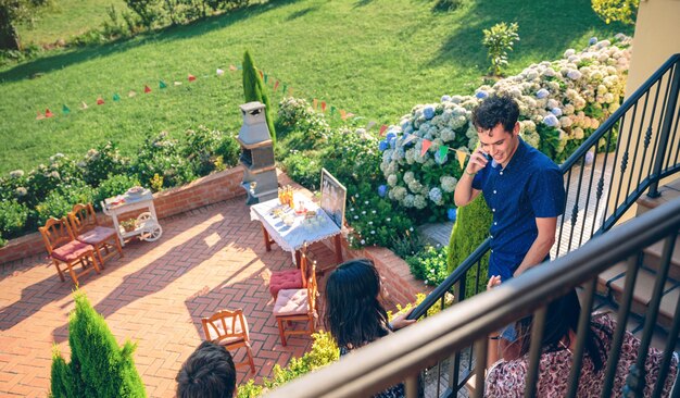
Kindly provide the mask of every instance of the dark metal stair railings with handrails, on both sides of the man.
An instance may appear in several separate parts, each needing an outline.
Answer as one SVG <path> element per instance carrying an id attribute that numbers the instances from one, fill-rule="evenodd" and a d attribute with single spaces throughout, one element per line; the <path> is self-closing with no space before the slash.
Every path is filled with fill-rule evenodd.
<path id="1" fill-rule="evenodd" d="M 489 251 L 490 241 L 487 239 L 414 310 L 411 316 L 425 318 L 428 310 L 435 306 L 443 309 L 449 293 L 453 294 L 457 302 L 455 311 L 444 311 L 446 315 L 438 315 L 437 322 L 435 319 L 431 322 L 430 320 L 419 322 L 410 327 L 412 331 L 407 328 L 403 334 L 391 336 L 385 339 L 386 341 L 378 341 L 367 347 L 365 351 L 362 350 L 361 356 L 352 360 L 342 360 L 340 364 L 333 364 L 331 370 L 323 370 L 314 376 L 303 377 L 300 382 L 274 391 L 272 396 L 285 397 L 293 391 L 292 395 L 300 397 L 367 396 L 403 380 L 413 387 L 415 374 L 426 366 L 427 396 L 455 396 L 465 390 L 464 385 L 473 374 L 483 374 L 484 361 L 474 360 L 483 358 L 479 356 L 487 350 L 486 337 L 479 339 L 480 336 L 486 336 L 494 327 L 498 328 L 537 309 L 539 309 L 537 319 L 544 319 L 547 299 L 555 298 L 557 294 L 583 282 L 588 282 L 585 302 L 592 306 L 596 276 L 600 272 L 616 261 L 638 253 L 645 245 L 653 242 L 653 239 L 658 240 L 678 232 L 677 219 L 680 210 L 676 201 L 672 208 L 675 214 L 672 211 L 662 211 L 668 215 L 668 220 L 676 220 L 675 226 L 669 229 L 659 229 L 654 222 L 642 223 L 634 220 L 635 225 L 641 224 L 634 234 L 622 232 L 614 234 L 617 231 L 613 231 L 600 239 L 593 239 L 592 245 L 588 246 L 590 249 L 583 247 L 575 251 L 591 238 L 609 232 L 645 191 L 648 190 L 650 197 L 657 197 L 659 182 L 680 171 L 679 90 L 680 54 L 675 54 L 561 165 L 565 175 L 567 202 L 565 214 L 558 220 L 556 245 L 552 251 L 552 257 L 556 260 L 550 268 L 538 268 L 530 273 L 531 277 L 527 275 L 504 284 L 502 289 L 498 289 L 503 295 L 492 291 L 490 295 L 480 295 L 479 298 L 466 300 L 468 284 L 474 284 L 471 288 L 474 294 L 479 293 L 479 286 L 483 285 L 479 283 L 479 277 L 482 258 Z M 658 220 L 659 225 L 667 225 L 668 221 L 664 220 L 663 215 L 657 215 L 654 220 Z M 633 222 L 625 228 L 627 232 L 631 231 Z M 650 231 L 655 233 L 652 234 Z M 642 236 L 647 239 L 640 241 Z M 633 240 L 640 242 L 634 244 Z M 626 241 L 626 245 L 621 245 L 620 241 Z M 671 244 L 670 247 L 672 249 Z M 615 257 L 614 252 L 620 254 Z M 561 266 L 555 266 L 557 264 Z M 629 266 L 637 268 L 639 262 L 631 261 Z M 630 269 L 627 274 L 634 274 L 632 271 L 637 269 Z M 539 274 L 542 276 L 539 277 Z M 664 281 L 657 279 L 657 285 L 663 287 L 667 275 L 662 272 L 659 278 L 662 276 Z M 541 285 L 543 283 L 545 285 Z M 619 314 L 619 321 L 624 322 L 619 324 L 626 324 L 633 284 L 634 278 L 630 283 L 627 282 L 626 296 L 620 306 L 624 313 Z M 554 290 L 544 286 L 553 286 Z M 517 291 L 522 294 L 517 295 Z M 543 296 L 537 295 L 537 291 L 541 291 Z M 490 304 L 491 302 L 493 304 Z M 589 306 L 584 308 L 590 308 Z M 589 311 L 583 313 L 589 314 Z M 672 326 L 675 328 L 671 328 L 671 333 L 675 331 L 673 336 L 678 335 L 677 315 Z M 444 319 L 446 321 L 443 321 Z M 651 319 L 655 320 L 656 314 L 653 316 L 648 314 L 645 319 L 645 333 L 648 332 L 647 323 Z M 452 323 L 448 323 L 449 321 Z M 431 329 L 426 329 L 424 325 Z M 652 326 L 653 324 L 650 327 Z M 581 335 L 580 333 L 579 337 Z M 473 352 L 475 340 L 479 344 L 476 352 Z M 648 346 L 648 341 L 646 345 Z M 534 347 L 532 351 L 534 365 L 538 352 L 538 348 Z M 580 355 L 579 352 L 576 357 L 578 360 Z M 531 381 L 536 381 L 536 373 L 533 366 L 530 372 Z M 330 378 L 325 378 L 326 375 Z M 572 374 L 571 377 L 578 375 Z M 483 384 L 483 377 L 478 377 L 477 384 L 479 394 L 483 391 L 483 388 L 479 389 Z M 311 388 L 312 385 L 318 388 Z M 529 383 L 528 385 L 532 386 Z M 310 395 L 306 391 L 311 391 Z M 414 391 L 412 389 L 411 393 Z M 574 396 L 576 393 L 572 390 L 570 394 Z"/>

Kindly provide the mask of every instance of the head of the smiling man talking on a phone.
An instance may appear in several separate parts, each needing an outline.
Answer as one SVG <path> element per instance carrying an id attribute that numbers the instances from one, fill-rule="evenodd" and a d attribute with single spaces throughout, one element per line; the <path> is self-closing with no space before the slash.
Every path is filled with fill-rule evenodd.
<path id="1" fill-rule="evenodd" d="M 491 96 L 473 111 L 481 149 L 506 166 L 519 144 L 519 105 L 506 96 Z"/>

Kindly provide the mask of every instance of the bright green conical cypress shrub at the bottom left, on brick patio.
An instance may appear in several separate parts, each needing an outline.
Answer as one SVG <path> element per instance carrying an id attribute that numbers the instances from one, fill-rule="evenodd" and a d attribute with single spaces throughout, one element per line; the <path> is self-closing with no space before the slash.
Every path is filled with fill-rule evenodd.
<path id="1" fill-rule="evenodd" d="M 95 311 L 85 294 L 74 294 L 76 309 L 68 320 L 71 362 L 61 353 L 52 356 L 51 396 L 60 397 L 146 397 L 144 385 L 135 368 L 136 345 L 123 348 Z"/>

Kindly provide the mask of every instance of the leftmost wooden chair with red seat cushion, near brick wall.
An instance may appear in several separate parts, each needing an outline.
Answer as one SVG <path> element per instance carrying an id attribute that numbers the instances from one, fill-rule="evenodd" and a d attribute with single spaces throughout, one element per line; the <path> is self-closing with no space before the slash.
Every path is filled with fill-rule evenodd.
<path id="1" fill-rule="evenodd" d="M 47 251 L 54 266 L 56 266 L 56 272 L 62 282 L 65 279 L 60 263 L 66 264 L 66 270 L 76 286 L 78 285 L 78 277 L 89 273 L 92 269 L 98 274 L 100 273 L 97 259 L 95 258 L 95 248 L 75 239 L 66 217 L 52 217 L 38 231 L 42 235 Z M 76 273 L 74 265 L 78 263 L 83 265 L 83 271 Z M 90 264 L 92 266 L 89 266 Z"/>

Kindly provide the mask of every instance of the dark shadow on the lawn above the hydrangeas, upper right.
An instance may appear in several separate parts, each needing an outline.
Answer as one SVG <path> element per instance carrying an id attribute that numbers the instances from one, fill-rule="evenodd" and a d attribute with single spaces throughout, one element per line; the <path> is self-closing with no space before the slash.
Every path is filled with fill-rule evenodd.
<path id="1" fill-rule="evenodd" d="M 513 59 L 532 53 L 552 53 L 552 59 L 556 59 L 572 45 L 574 38 L 585 35 L 594 27 L 605 30 L 608 38 L 619 32 L 627 35 L 633 32 L 631 26 L 605 25 L 592 11 L 589 1 L 469 1 L 455 12 L 461 13 L 461 24 L 441 45 L 430 66 L 444 63 L 461 67 L 487 65 L 487 51 L 481 43 L 482 30 L 500 22 L 517 22 L 519 25 L 520 41 L 509 54 L 511 63 Z"/>

